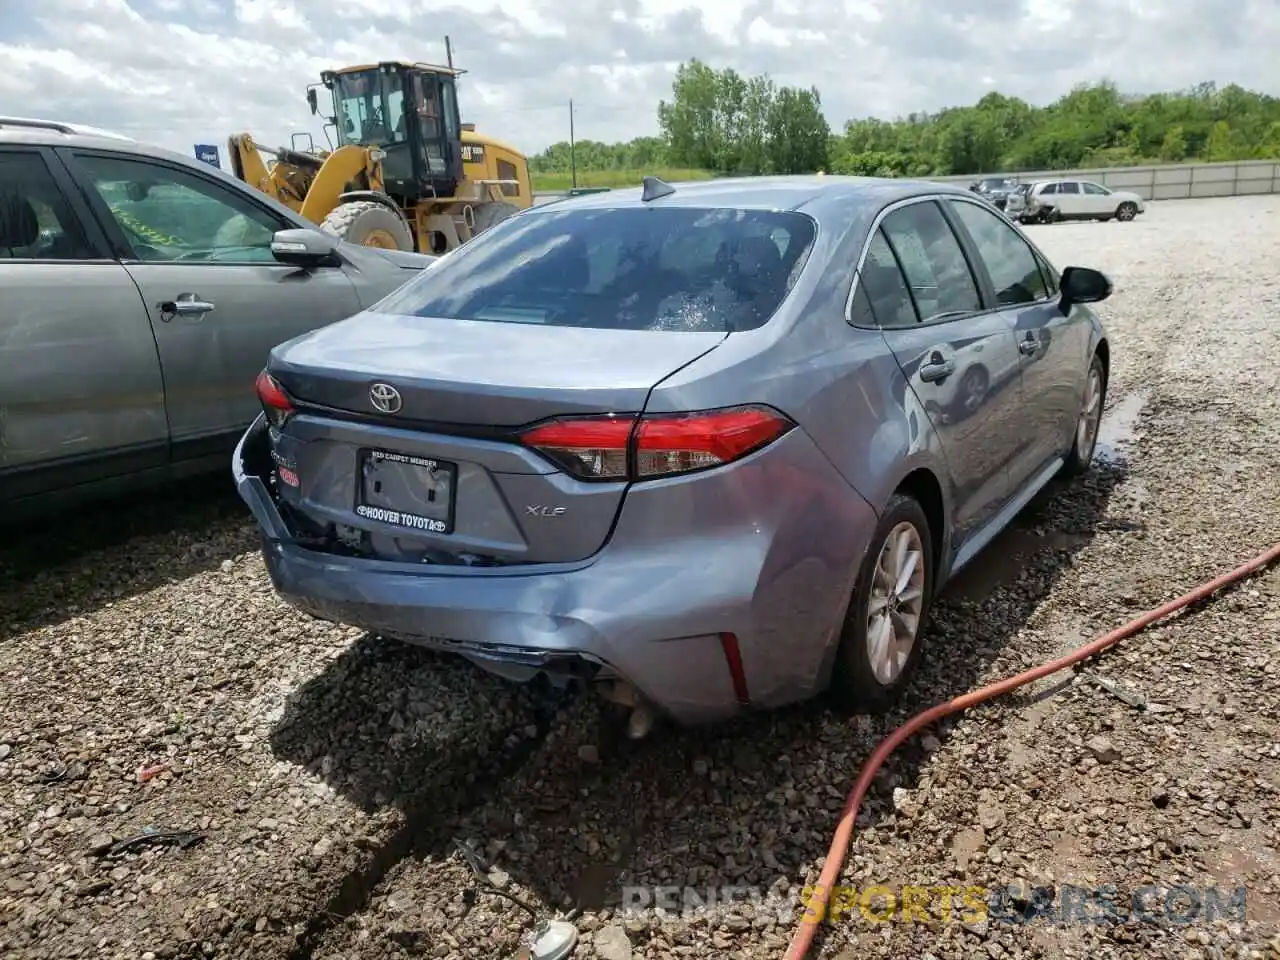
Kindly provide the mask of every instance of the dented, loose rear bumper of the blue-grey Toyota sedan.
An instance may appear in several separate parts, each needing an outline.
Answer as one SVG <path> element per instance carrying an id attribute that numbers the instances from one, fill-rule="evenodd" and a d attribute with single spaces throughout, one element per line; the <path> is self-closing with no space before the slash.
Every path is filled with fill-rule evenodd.
<path id="1" fill-rule="evenodd" d="M 576 563 L 465 567 L 340 556 L 289 529 L 268 485 L 266 433 L 265 420 L 250 428 L 233 474 L 261 527 L 271 581 L 296 608 L 457 653 L 513 680 L 621 680 L 681 723 L 808 699 L 826 686 L 850 576 L 876 522 L 869 507 L 851 503 L 847 486 L 835 512 L 796 498 L 787 508 L 796 516 L 780 520 L 799 520 L 813 536 L 803 556 L 781 557 L 759 517 L 694 536 L 687 517 L 669 516 L 669 497 L 658 512 L 643 494 L 628 494 L 616 545 Z M 808 438 L 787 442 L 801 454 L 813 451 L 803 471 L 844 484 Z M 788 470 L 795 452 L 790 460 Z M 717 495 L 708 481 L 699 480 Z M 690 557 L 696 570 L 687 570 Z M 748 703 L 735 689 L 723 634 L 739 641 Z"/>

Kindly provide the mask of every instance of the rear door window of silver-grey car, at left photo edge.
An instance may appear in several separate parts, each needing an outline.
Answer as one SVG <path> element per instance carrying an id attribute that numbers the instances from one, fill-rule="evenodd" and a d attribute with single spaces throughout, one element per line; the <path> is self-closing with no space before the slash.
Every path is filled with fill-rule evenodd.
<path id="1" fill-rule="evenodd" d="M 90 260 L 79 220 L 38 154 L 0 152 L 0 260 Z"/>

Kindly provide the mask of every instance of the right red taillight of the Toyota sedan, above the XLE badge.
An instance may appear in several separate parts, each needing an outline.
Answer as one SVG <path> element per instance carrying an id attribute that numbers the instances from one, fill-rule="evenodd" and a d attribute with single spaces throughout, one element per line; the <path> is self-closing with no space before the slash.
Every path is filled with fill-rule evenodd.
<path id="1" fill-rule="evenodd" d="M 792 426 L 771 407 L 749 406 L 550 420 L 521 439 L 582 480 L 653 480 L 731 463 Z"/>

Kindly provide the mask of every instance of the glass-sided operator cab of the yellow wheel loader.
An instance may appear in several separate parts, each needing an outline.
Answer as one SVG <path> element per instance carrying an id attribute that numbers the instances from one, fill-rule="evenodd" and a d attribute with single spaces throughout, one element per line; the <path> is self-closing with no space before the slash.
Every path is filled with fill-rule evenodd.
<path id="1" fill-rule="evenodd" d="M 402 204 L 451 197 L 463 178 L 458 73 L 380 63 L 321 74 L 333 92 L 338 142 L 379 147 L 387 192 Z"/>

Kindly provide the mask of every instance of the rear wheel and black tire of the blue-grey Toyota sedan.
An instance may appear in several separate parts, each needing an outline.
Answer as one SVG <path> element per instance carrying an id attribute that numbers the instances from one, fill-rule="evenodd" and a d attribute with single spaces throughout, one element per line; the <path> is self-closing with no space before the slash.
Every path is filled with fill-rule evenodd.
<path id="1" fill-rule="evenodd" d="M 896 599 L 887 599 L 886 593 L 893 595 L 888 589 L 888 570 L 896 566 L 891 543 L 895 538 L 904 538 L 899 540 L 899 549 L 909 549 L 916 558 L 916 566 L 910 572 L 906 589 Z M 897 573 L 901 576 L 901 567 Z M 922 637 L 933 600 L 933 535 L 928 517 L 915 499 L 895 494 L 876 525 L 845 613 L 832 676 L 832 692 L 842 708 L 884 713 L 897 703 L 923 654 Z M 887 611 L 881 614 L 886 602 L 897 614 Z M 904 650 L 900 644 L 893 650 L 891 635 L 887 641 L 891 644 L 890 655 L 883 655 L 879 636 L 870 632 L 873 621 L 883 628 L 881 625 L 887 617 L 890 626 L 902 628 L 910 626 L 904 614 L 914 617 L 910 645 Z"/>

